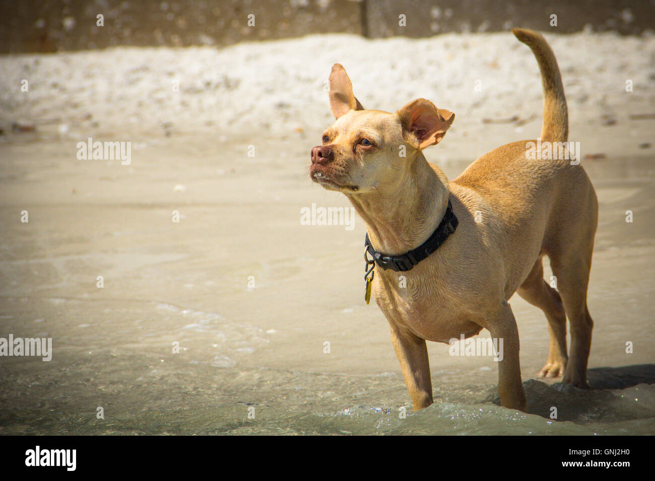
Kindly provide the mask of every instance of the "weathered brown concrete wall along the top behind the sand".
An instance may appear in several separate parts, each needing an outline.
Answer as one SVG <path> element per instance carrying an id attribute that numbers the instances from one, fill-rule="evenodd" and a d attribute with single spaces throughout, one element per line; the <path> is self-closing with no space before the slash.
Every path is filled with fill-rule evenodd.
<path id="1" fill-rule="evenodd" d="M 248 26 L 250 14 L 254 26 Z M 551 14 L 557 27 L 550 26 Z M 0 19 L 0 53 L 56 52 L 231 45 L 332 32 L 427 37 L 513 26 L 640 34 L 655 29 L 655 0 L 1 0 Z"/>

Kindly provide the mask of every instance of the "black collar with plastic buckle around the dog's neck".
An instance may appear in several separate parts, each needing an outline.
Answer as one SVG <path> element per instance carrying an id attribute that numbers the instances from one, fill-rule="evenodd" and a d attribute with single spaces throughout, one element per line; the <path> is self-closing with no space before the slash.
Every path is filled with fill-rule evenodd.
<path id="1" fill-rule="evenodd" d="M 437 226 L 434 232 L 432 232 L 432 236 L 416 249 L 412 249 L 403 255 L 384 255 L 373 249 L 368 234 L 366 234 L 364 247 L 368 253 L 373 256 L 375 263 L 383 269 L 392 269 L 397 272 L 411 270 L 411 268 L 421 262 L 421 260 L 436 251 L 440 245 L 443 244 L 446 238 L 455 232 L 458 223 L 457 217 L 455 217 L 455 213 L 453 212 L 453 206 L 449 200 L 448 207 L 446 207 L 441 223 Z"/>

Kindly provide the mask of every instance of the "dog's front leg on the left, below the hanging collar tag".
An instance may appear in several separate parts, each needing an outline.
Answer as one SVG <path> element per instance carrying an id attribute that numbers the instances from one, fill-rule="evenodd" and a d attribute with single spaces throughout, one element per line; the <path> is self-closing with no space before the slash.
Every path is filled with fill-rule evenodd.
<path id="1" fill-rule="evenodd" d="M 414 404 L 414 410 L 432 404 L 430 361 L 425 340 L 391 324 L 391 340 L 403 370 L 403 378 Z"/>

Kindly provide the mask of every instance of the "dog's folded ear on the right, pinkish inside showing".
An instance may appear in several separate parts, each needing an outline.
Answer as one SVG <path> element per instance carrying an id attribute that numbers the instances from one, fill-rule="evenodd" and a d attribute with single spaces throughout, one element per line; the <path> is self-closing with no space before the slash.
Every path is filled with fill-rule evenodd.
<path id="1" fill-rule="evenodd" d="M 411 101 L 397 113 L 403 126 L 403 134 L 405 137 L 415 135 L 419 141 L 417 147 L 421 150 L 439 143 L 455 120 L 454 113 L 438 109 L 426 99 Z"/>

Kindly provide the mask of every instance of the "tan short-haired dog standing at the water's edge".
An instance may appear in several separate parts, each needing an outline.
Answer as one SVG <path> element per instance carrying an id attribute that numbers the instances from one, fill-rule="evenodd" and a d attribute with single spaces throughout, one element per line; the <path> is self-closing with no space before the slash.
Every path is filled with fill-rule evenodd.
<path id="1" fill-rule="evenodd" d="M 514 29 L 514 35 L 530 46 L 540 67 L 545 96 L 540 139 L 565 142 L 567 105 L 553 51 L 534 31 Z M 338 63 L 329 82 L 337 121 L 312 149 L 310 177 L 348 197 L 373 249 L 389 256 L 415 249 L 436 230 L 449 201 L 458 219 L 455 232 L 411 270 L 375 268 L 373 294 L 390 324 L 414 409 L 433 402 L 426 340 L 447 343 L 487 329 L 503 340 L 500 402 L 525 410 L 519 337 L 507 302 L 515 292 L 548 319 L 550 351 L 540 376 L 563 374 L 563 382 L 588 387 L 593 323 L 586 297 L 598 204 L 582 166 L 561 158 L 529 160 L 529 141 L 519 141 L 485 154 L 449 182 L 422 149 L 443 139 L 453 113 L 425 99 L 396 113 L 364 110 Z M 399 155 L 403 149 L 406 156 Z M 544 255 L 557 291 L 544 281 Z"/>

